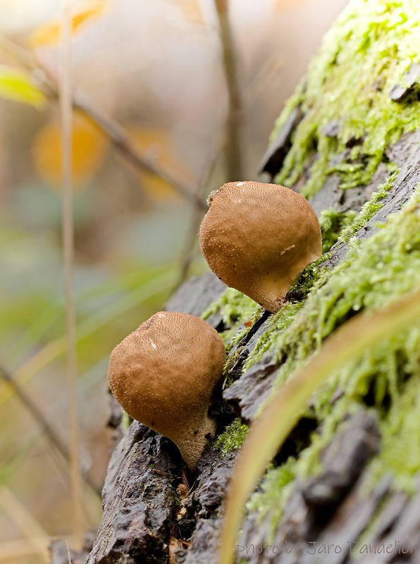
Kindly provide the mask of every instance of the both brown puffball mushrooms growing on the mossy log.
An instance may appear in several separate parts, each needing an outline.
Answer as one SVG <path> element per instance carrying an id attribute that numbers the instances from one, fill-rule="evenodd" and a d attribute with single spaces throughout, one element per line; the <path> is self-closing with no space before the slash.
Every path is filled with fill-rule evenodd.
<path id="1" fill-rule="evenodd" d="M 231 182 L 209 198 L 199 231 L 212 271 L 270 312 L 292 282 L 321 256 L 321 228 L 297 192 L 276 184 Z M 225 346 L 190 314 L 159 312 L 114 348 L 109 387 L 133 419 L 171 439 L 190 470 L 216 420 L 209 406 L 223 382 Z"/>

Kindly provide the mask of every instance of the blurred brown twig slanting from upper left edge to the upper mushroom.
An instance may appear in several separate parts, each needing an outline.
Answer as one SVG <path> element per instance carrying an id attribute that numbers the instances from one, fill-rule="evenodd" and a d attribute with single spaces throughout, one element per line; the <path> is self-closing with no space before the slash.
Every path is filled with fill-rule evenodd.
<path id="1" fill-rule="evenodd" d="M 34 56 L 31 51 L 23 49 L 19 45 L 0 35 L 0 51 L 13 59 L 20 66 L 32 73 L 32 79 L 37 87 L 41 88 L 44 94 L 50 99 L 58 99 L 58 84 L 60 74 L 54 68 L 51 61 L 45 61 L 45 56 L 39 54 Z M 43 60 L 42 60 L 43 59 Z M 197 200 L 197 185 L 185 179 L 177 178 L 175 171 L 163 170 L 156 165 L 156 162 L 145 159 L 139 154 L 135 145 L 130 140 L 130 135 L 116 120 L 111 118 L 104 111 L 95 106 L 82 90 L 72 92 L 73 107 L 82 111 L 97 124 L 107 137 L 111 140 L 116 150 L 122 157 L 140 171 L 147 171 L 159 176 L 170 184 L 176 192 L 192 201 L 202 209 L 206 209 L 204 200 Z"/>

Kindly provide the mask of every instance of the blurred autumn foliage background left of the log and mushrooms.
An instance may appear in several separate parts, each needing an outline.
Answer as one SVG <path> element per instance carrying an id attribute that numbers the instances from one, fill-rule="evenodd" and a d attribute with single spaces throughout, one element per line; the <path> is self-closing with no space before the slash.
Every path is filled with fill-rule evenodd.
<path id="1" fill-rule="evenodd" d="M 109 460 L 109 353 L 185 276 L 205 271 L 197 202 L 226 180 L 257 178 L 273 122 L 346 0 L 230 0 L 240 178 L 226 173 L 231 111 L 216 4 L 73 2 L 73 81 L 92 110 L 73 115 L 85 529 L 99 523 Z M 71 522 L 68 467 L 43 428 L 66 448 L 60 116 L 51 90 L 60 10 L 59 0 L 0 0 L 0 562 L 17 564 L 46 562 L 49 539 L 68 538 Z M 108 134 L 104 121 L 114 126 Z M 137 160 L 118 150 L 119 127 Z"/>

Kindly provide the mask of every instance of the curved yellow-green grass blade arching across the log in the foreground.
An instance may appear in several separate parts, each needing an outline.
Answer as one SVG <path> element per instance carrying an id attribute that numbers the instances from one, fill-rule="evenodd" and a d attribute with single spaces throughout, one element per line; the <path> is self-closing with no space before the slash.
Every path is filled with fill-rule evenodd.
<path id="1" fill-rule="evenodd" d="M 407 328 L 419 317 L 420 291 L 371 316 L 359 314 L 335 331 L 319 353 L 280 389 L 249 431 L 235 465 L 222 528 L 220 564 L 234 562 L 235 539 L 247 498 L 295 426 L 299 412 L 312 393 L 345 362 L 357 359 L 366 348 Z"/>

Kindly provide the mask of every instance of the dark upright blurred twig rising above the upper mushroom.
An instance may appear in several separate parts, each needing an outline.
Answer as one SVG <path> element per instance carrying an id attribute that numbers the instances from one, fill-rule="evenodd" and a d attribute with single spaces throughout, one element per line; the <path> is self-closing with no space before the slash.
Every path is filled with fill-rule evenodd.
<path id="1" fill-rule="evenodd" d="M 223 68 L 229 95 L 228 120 L 226 123 L 227 139 L 225 145 L 227 180 L 244 180 L 242 170 L 241 97 L 237 80 L 237 65 L 232 30 L 229 23 L 229 0 L 214 0 L 220 26 L 223 48 Z"/>

